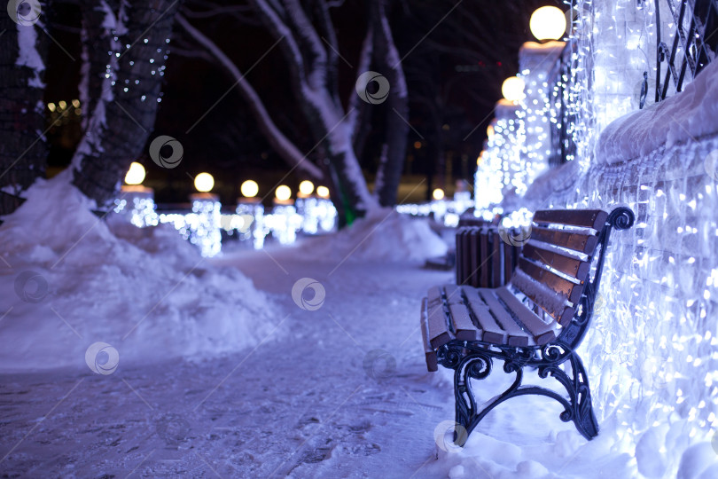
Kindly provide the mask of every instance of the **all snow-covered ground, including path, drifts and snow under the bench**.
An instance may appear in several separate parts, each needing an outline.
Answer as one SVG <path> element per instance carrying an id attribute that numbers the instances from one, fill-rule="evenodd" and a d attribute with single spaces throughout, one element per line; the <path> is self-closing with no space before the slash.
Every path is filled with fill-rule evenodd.
<path id="1" fill-rule="evenodd" d="M 448 444 L 452 377 L 426 373 L 418 313 L 453 273 L 422 268 L 445 249 L 424 220 L 387 213 L 198 265 L 162 229 L 108 228 L 60 183 L 0 226 L 4 476 L 718 476 L 681 421 L 633 444 L 601 411 L 587 442 L 546 397 Z M 510 379 L 497 367 L 475 389 Z"/>

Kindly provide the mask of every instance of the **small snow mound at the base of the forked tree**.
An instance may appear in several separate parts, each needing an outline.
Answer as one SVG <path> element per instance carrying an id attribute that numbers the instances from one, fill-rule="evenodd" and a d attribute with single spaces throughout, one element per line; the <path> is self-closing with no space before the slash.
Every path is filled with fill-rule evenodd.
<path id="1" fill-rule="evenodd" d="M 448 247 L 425 218 L 382 208 L 351 227 L 304 242 L 300 255 L 316 261 L 411 261 L 445 255 Z"/>

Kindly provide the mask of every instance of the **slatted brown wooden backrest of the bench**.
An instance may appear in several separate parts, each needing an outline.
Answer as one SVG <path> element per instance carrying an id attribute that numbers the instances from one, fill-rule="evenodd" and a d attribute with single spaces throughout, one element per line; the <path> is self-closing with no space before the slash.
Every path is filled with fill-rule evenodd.
<path id="1" fill-rule="evenodd" d="M 534 312 L 545 319 L 556 319 L 561 326 L 579 316 L 586 322 L 610 232 L 612 228 L 628 229 L 633 221 L 628 208 L 616 208 L 611 214 L 601 209 L 536 211 L 511 286 L 526 295 Z"/>

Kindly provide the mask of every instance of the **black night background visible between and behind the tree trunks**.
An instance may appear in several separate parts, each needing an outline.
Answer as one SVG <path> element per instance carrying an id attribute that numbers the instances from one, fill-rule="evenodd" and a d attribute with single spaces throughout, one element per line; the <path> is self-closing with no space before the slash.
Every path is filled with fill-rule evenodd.
<path id="1" fill-rule="evenodd" d="M 446 0 L 394 2 L 394 40 L 402 56 L 410 52 L 402 62 L 410 95 L 411 125 L 402 184 L 416 185 L 426 179 L 426 187 L 418 188 L 410 198 L 400 188 L 400 200 L 425 200 L 433 187 L 446 187 L 450 193 L 457 179 L 472 184 L 475 159 L 486 139 L 494 104 L 501 98 L 501 83 L 518 72 L 519 47 L 533 39 L 528 29 L 530 14 L 542 4 L 554 3 L 479 0 L 456 6 Z M 200 2 L 186 2 L 183 12 L 201 12 L 201 7 Z M 447 13 L 446 20 L 436 26 Z M 249 7 L 239 16 L 242 20 L 227 14 L 191 21 L 230 53 L 245 73 L 274 42 Z M 68 54 L 74 59 L 81 54 L 80 6 L 60 4 L 49 12 L 49 18 L 51 35 L 66 51 L 50 44 L 46 75 L 53 81 L 48 82 L 45 103 L 69 103 L 78 97 L 80 62 L 71 61 Z M 339 62 L 341 98 L 346 101 L 354 94 L 355 66 L 366 27 L 365 5 L 359 0 L 347 0 L 332 9 L 332 20 L 339 53 L 346 59 Z M 160 134 L 179 139 L 184 147 L 184 168 L 160 169 L 148 157 L 139 158 L 147 169 L 145 185 L 154 188 L 160 203 L 182 202 L 193 191 L 190 175 L 208 171 L 215 176 L 215 191 L 224 202 L 232 203 L 240 183 L 249 178 L 260 184 L 261 194 L 266 192 L 289 167 L 271 150 L 236 91 L 230 90 L 218 101 L 233 79 L 179 27 L 175 28 L 170 51 L 163 98 L 150 141 Z M 292 108 L 286 107 L 292 105 L 293 93 L 285 82 L 285 68 L 282 55 L 277 50 L 270 51 L 247 79 L 264 99 L 279 128 L 296 141 L 300 150 L 309 151 L 313 145 L 306 125 Z M 377 111 L 381 107 L 386 106 L 377 106 Z M 51 114 L 46 113 L 49 125 Z M 371 126 L 376 131 L 381 129 L 382 115 L 374 116 L 377 121 Z M 81 135 L 79 122 L 80 116 L 71 115 L 63 125 L 50 130 L 49 176 L 66 167 L 72 158 Z M 378 157 L 377 148 L 372 149 L 370 133 L 367 151 L 360 159 L 370 185 Z M 285 183 L 295 191 L 302 179 L 293 174 Z"/>

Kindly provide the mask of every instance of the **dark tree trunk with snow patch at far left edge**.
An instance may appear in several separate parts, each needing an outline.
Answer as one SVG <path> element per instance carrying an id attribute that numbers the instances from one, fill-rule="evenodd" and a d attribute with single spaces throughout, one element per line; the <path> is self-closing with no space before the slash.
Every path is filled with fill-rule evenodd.
<path id="1" fill-rule="evenodd" d="M 44 175 L 47 164 L 43 137 L 47 40 L 39 25 L 17 24 L 4 11 L 0 33 L 0 216 L 4 216 L 20 206 L 20 192 Z"/>

